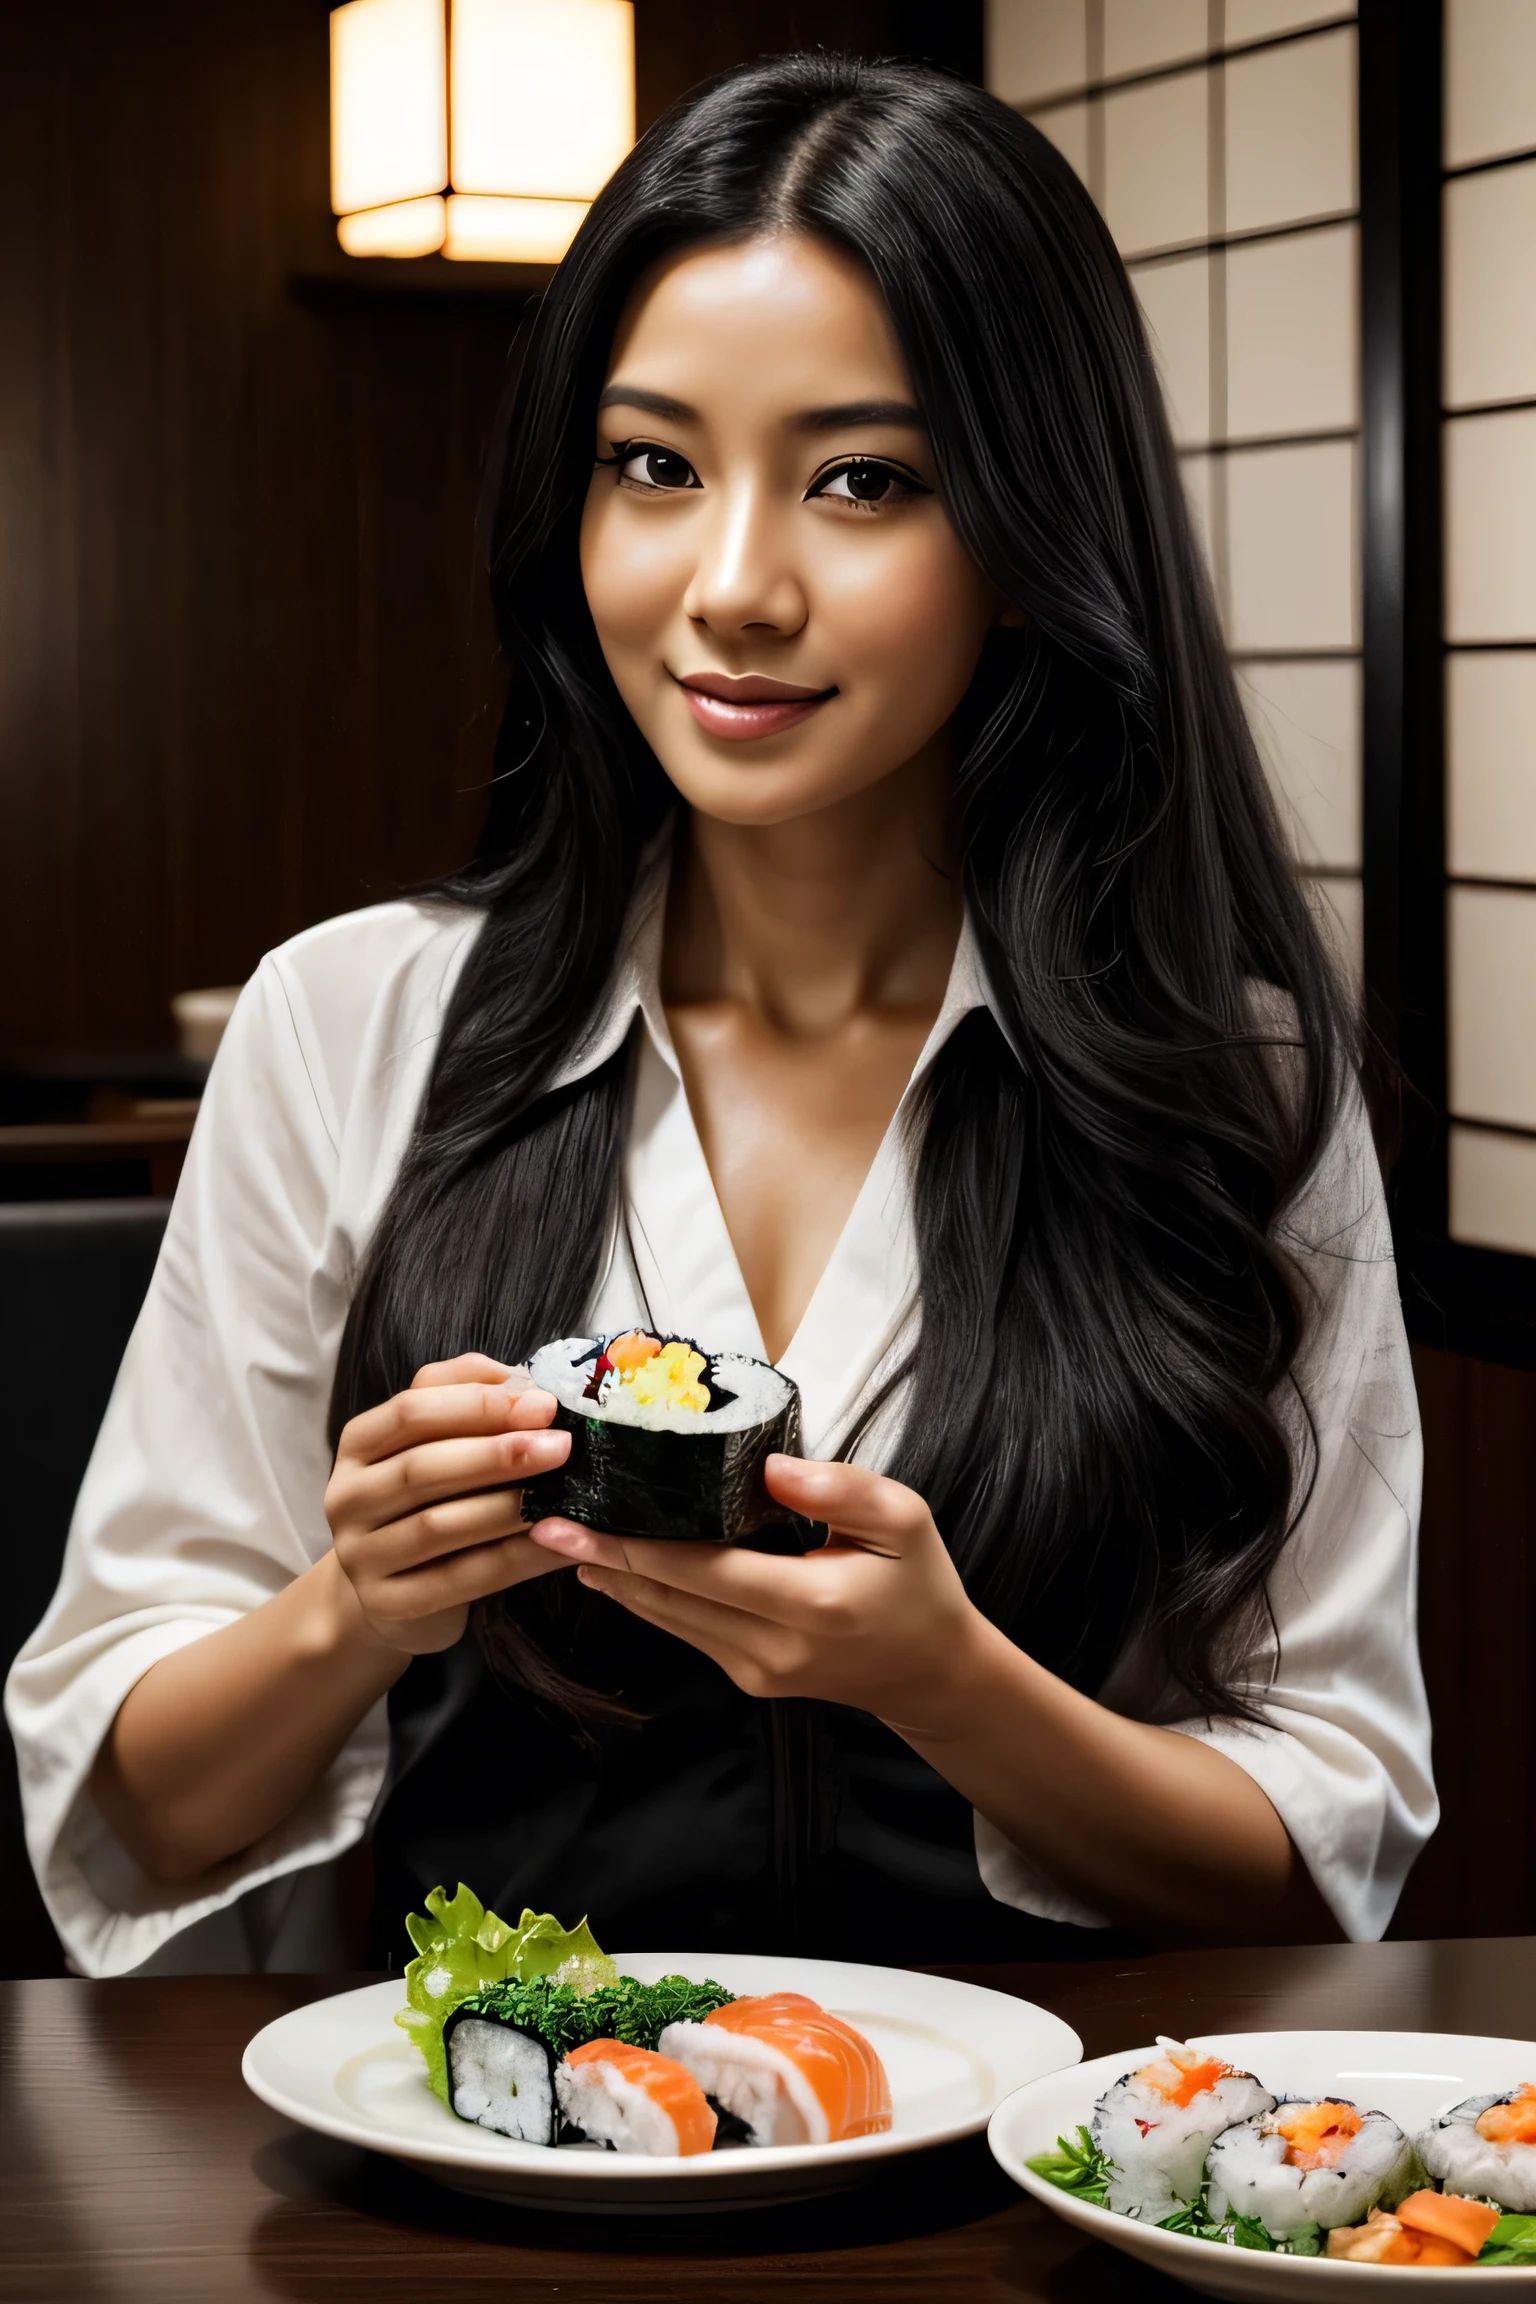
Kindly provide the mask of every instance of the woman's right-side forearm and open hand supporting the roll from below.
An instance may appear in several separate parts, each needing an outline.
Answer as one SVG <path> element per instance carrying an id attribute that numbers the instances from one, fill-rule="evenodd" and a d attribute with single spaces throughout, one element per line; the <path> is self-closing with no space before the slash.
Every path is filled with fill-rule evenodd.
<path id="1" fill-rule="evenodd" d="M 873 1712 L 1062 1887 L 1165 1938 L 1338 1935 L 1276 1809 L 1234 1760 L 1080 1696 L 965 1597 L 928 1507 L 843 1463 L 769 1463 L 831 1523 L 774 1560 L 541 1521 L 583 1583 L 714 1657 L 751 1696 Z"/>

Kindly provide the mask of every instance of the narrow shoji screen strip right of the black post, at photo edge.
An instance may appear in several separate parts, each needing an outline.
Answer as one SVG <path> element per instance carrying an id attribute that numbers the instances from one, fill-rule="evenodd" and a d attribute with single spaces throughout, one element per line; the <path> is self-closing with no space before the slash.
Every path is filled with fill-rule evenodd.
<path id="1" fill-rule="evenodd" d="M 1536 1256 L 1536 0 L 1446 0 L 1451 1237 Z"/>

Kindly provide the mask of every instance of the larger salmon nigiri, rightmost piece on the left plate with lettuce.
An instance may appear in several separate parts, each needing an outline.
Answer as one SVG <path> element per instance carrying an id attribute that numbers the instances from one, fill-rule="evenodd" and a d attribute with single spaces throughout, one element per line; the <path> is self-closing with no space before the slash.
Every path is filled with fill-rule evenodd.
<path id="1" fill-rule="evenodd" d="M 702 2023 L 670 2023 L 659 2046 L 755 2145 L 836 2145 L 891 2127 L 891 2083 L 864 2032 L 804 1993 L 732 2000 Z"/>

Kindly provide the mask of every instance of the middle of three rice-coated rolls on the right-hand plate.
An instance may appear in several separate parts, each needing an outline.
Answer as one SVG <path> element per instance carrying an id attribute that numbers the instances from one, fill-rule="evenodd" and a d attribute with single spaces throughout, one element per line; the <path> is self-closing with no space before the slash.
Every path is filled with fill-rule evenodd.
<path id="1" fill-rule="evenodd" d="M 1340 2097 L 1283 2099 L 1273 2110 L 1225 2129 L 1207 2159 L 1209 2214 L 1255 2216 L 1271 2239 L 1320 2226 L 1363 2223 L 1409 2189 L 1414 2147 L 1386 2113 L 1361 2113 Z"/>

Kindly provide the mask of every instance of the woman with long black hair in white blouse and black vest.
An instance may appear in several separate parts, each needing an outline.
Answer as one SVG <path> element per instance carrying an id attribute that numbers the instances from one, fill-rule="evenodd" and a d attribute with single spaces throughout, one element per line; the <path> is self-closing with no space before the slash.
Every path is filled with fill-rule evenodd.
<path id="1" fill-rule="evenodd" d="M 461 1875 L 631 1947 L 1379 1933 L 1435 1818 L 1379 1177 L 1071 170 L 905 67 L 670 115 L 493 590 L 481 852 L 246 988 L 16 1668 L 74 1956 L 313 1956 L 371 1816 L 375 1956 Z M 822 1553 L 523 1528 L 514 1364 L 631 1322 L 797 1378 Z"/>

